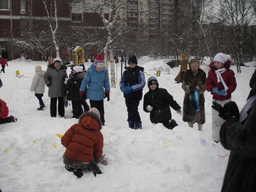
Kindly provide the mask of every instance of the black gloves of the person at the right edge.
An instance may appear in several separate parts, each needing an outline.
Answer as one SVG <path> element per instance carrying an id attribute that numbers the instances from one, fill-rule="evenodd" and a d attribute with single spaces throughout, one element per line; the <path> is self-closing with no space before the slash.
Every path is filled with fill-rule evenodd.
<path id="1" fill-rule="evenodd" d="M 240 113 L 239 109 L 237 107 L 236 102 L 230 101 L 227 102 L 223 107 L 216 103 L 212 102 L 213 106 L 212 109 L 215 109 L 219 112 L 219 116 L 225 120 L 228 120 L 228 118 L 232 118 L 232 116 L 236 116 L 236 119 L 239 120 Z"/>

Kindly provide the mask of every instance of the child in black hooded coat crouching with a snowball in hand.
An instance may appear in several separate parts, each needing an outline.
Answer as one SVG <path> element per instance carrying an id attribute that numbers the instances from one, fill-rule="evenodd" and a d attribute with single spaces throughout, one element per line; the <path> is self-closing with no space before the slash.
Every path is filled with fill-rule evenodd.
<path id="1" fill-rule="evenodd" d="M 181 115 L 179 104 L 173 100 L 172 95 L 164 88 L 159 88 L 156 77 L 148 78 L 149 91 L 144 95 L 143 110 L 150 113 L 152 124 L 161 123 L 167 129 L 173 129 L 178 124 L 172 120 L 170 107 Z"/>

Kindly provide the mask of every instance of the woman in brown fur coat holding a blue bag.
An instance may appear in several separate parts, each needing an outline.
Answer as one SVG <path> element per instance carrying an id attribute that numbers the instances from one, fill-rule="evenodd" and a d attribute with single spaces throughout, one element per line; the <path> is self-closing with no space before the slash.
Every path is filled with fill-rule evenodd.
<path id="1" fill-rule="evenodd" d="M 205 109 L 204 109 L 204 92 L 206 90 L 205 81 L 206 74 L 204 70 L 199 68 L 198 60 L 189 61 L 189 70 L 184 75 L 184 79 L 182 82 L 182 89 L 185 92 L 184 101 L 183 101 L 183 116 L 182 120 L 184 122 L 188 122 L 189 127 L 193 127 L 193 124 L 198 124 L 198 130 L 202 131 L 203 124 L 205 123 Z M 186 101 L 189 99 L 189 93 L 193 90 L 197 90 L 198 99 L 199 99 L 199 108 L 196 111 L 195 116 L 188 116 L 184 113 L 184 108 L 186 105 Z"/>

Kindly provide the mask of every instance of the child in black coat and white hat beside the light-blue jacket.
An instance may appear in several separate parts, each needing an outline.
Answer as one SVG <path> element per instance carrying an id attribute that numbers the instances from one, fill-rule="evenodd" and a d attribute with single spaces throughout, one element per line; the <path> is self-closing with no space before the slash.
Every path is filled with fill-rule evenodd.
<path id="1" fill-rule="evenodd" d="M 79 118 L 83 113 L 83 108 L 80 99 L 80 86 L 84 78 L 83 67 L 75 66 L 72 68 L 72 76 L 67 81 L 68 95 L 67 100 L 71 100 L 73 116 L 72 118 Z"/>

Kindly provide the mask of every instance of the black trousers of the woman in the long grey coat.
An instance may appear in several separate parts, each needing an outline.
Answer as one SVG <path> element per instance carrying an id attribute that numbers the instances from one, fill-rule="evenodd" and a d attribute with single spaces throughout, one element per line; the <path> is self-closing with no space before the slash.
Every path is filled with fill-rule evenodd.
<path id="1" fill-rule="evenodd" d="M 60 116 L 65 115 L 64 97 L 52 97 L 51 104 L 50 104 L 51 117 L 56 117 L 57 115 L 57 98 L 58 98 L 58 113 Z"/>

